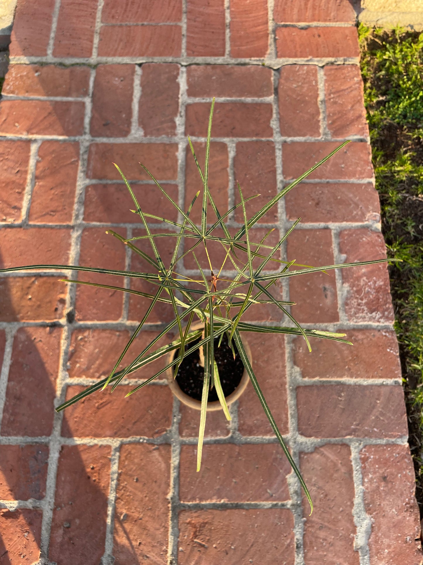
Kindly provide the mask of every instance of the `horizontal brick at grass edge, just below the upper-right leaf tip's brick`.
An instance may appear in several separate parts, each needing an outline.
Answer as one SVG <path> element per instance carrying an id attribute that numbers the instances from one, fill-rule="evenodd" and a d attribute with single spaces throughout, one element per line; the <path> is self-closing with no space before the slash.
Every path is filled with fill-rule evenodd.
<path id="1" fill-rule="evenodd" d="M 379 197 L 371 182 L 302 183 L 285 196 L 289 220 L 302 223 L 380 221 Z"/>

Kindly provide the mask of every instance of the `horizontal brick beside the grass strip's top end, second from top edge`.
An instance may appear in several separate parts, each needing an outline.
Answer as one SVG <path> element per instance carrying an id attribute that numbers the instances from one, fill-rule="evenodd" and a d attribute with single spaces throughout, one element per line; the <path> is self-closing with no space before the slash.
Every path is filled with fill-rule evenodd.
<path id="1" fill-rule="evenodd" d="M 282 58 L 358 57 L 355 27 L 276 29 L 277 56 Z"/>

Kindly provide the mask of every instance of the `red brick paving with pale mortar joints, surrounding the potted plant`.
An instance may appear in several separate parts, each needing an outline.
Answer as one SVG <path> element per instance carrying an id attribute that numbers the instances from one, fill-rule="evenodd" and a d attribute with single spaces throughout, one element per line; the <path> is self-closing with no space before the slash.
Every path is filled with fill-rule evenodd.
<path id="1" fill-rule="evenodd" d="M 187 207 L 201 186 L 186 134 L 201 162 L 213 96 L 210 188 L 220 210 L 238 202 L 239 181 L 245 195 L 261 194 L 251 214 L 351 137 L 254 233 L 274 227 L 276 241 L 301 216 L 290 259 L 385 257 L 352 5 L 18 0 L 0 103 L 0 263 L 146 269 L 105 234 L 109 224 L 125 237 L 142 233 L 112 162 L 149 212 L 177 220 L 138 163 Z M 231 231 L 238 212 L 227 219 Z M 169 260 L 169 242 L 160 248 Z M 8 564 L 34 563 L 40 551 L 59 565 L 420 564 L 384 264 L 294 277 L 274 290 L 297 302 L 292 313 L 303 323 L 345 331 L 354 347 L 313 340 L 309 354 L 299 337 L 246 336 L 311 490 L 310 517 L 250 385 L 230 422 L 209 414 L 200 473 L 199 412 L 174 402 L 163 383 L 124 399 L 129 383 L 162 361 L 113 395 L 55 416 L 55 403 L 108 375 L 147 302 L 50 275 L 0 280 L 0 555 Z M 102 281 L 151 290 L 140 280 Z M 151 323 L 170 316 L 160 305 Z M 271 306 L 247 318 L 286 323 Z M 128 360 L 155 328 L 136 338 Z"/>

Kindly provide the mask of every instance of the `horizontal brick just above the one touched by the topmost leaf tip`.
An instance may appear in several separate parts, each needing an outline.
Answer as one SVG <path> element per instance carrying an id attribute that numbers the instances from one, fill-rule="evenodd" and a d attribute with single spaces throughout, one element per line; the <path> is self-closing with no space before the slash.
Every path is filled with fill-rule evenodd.
<path id="1" fill-rule="evenodd" d="M 264 98 L 273 94 L 272 71 L 248 65 L 192 65 L 187 67 L 188 96 Z"/>

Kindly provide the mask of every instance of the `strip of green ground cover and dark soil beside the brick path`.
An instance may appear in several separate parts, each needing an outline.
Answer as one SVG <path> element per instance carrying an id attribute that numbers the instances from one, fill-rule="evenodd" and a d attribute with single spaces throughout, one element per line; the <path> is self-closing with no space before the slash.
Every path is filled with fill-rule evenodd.
<path id="1" fill-rule="evenodd" d="M 423 33 L 359 26 L 372 144 L 408 411 L 416 496 L 423 514 Z"/>

